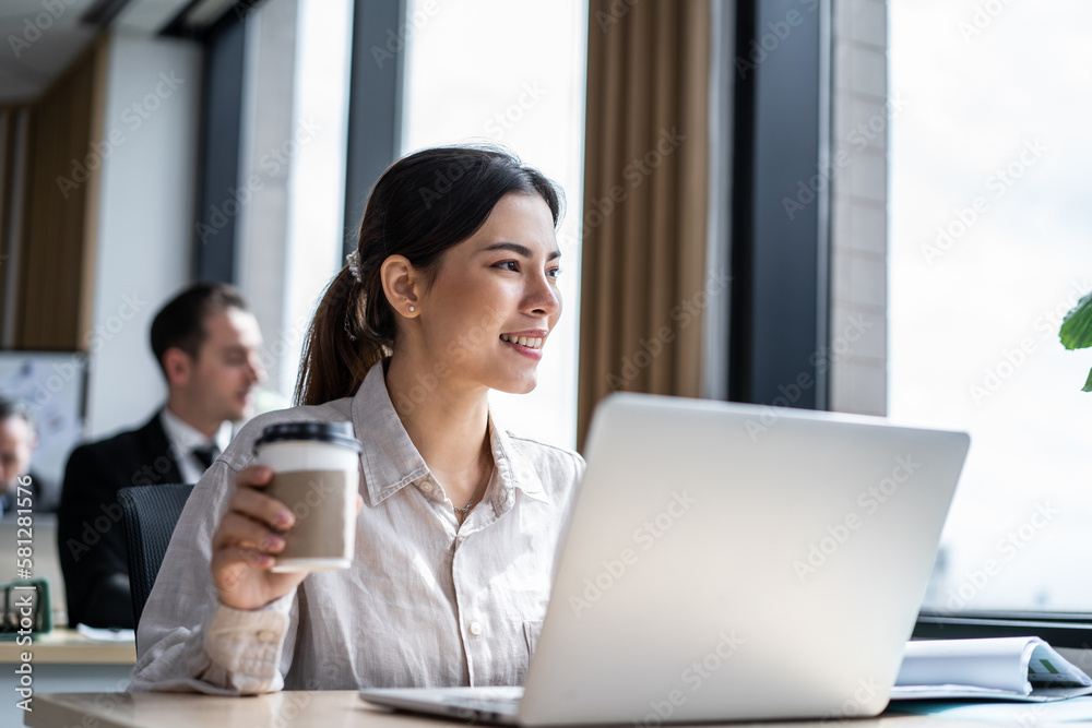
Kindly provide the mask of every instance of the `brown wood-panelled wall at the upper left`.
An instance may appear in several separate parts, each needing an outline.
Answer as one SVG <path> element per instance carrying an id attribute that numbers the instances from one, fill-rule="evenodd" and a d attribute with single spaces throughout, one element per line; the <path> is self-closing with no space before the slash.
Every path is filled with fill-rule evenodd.
<path id="1" fill-rule="evenodd" d="M 19 268 L 12 348 L 85 350 L 91 330 L 107 38 L 100 36 L 38 99 L 4 109 L 3 248 Z M 14 134 L 24 115 L 26 134 Z M 115 131 L 115 133 L 117 133 Z M 16 144 L 22 150 L 16 150 Z M 14 160 L 22 159 L 21 169 Z M 17 205 L 17 225 L 11 225 Z M 154 237 L 154 236 L 153 236 Z M 13 247 L 17 247 L 17 253 Z M 9 299 L 9 291 L 4 290 Z M 2 303 L 0 303 L 2 306 Z M 3 318 L 0 311 L 0 320 Z"/>

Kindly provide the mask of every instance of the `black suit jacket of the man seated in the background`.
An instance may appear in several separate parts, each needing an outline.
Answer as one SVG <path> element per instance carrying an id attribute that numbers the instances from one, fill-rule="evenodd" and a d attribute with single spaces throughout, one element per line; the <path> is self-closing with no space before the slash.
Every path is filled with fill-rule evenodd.
<path id="1" fill-rule="evenodd" d="M 133 626 L 118 490 L 181 481 L 159 413 L 139 430 L 72 451 L 57 510 L 69 624 Z"/>

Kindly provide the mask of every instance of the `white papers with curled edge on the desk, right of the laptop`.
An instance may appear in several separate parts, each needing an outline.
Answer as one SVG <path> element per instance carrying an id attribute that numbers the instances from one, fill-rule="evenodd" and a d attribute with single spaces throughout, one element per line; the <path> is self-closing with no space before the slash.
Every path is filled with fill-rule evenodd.
<path id="1" fill-rule="evenodd" d="M 892 700 L 1052 701 L 1092 693 L 1092 679 L 1038 637 L 906 644 Z"/>

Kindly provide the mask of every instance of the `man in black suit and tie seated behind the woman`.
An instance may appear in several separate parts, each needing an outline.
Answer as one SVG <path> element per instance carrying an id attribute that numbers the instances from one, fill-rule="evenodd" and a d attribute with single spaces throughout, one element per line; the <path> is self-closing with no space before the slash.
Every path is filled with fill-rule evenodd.
<path id="1" fill-rule="evenodd" d="M 64 472 L 57 540 L 69 624 L 134 626 L 118 490 L 197 482 L 264 377 L 258 321 L 230 286 L 190 286 L 156 314 L 151 338 L 167 402 L 142 427 L 76 447 Z"/>

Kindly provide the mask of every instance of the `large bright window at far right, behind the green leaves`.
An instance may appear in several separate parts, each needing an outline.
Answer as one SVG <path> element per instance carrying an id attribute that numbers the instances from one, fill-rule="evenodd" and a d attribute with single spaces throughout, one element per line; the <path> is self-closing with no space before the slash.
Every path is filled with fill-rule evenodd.
<path id="1" fill-rule="evenodd" d="M 1092 610 L 1092 3 L 891 0 L 890 415 L 972 444 L 926 607 Z"/>

